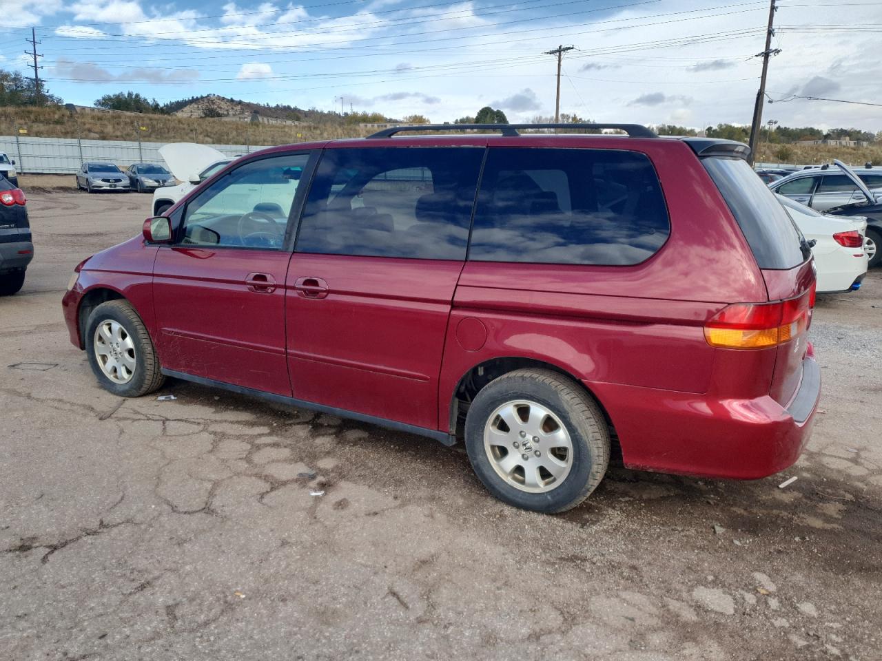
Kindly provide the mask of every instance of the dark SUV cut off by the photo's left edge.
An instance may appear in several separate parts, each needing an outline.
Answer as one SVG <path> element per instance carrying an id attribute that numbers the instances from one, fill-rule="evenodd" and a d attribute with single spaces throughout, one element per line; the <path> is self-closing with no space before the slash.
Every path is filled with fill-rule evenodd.
<path id="1" fill-rule="evenodd" d="M 33 258 L 25 193 L 0 176 L 0 296 L 19 292 Z"/>

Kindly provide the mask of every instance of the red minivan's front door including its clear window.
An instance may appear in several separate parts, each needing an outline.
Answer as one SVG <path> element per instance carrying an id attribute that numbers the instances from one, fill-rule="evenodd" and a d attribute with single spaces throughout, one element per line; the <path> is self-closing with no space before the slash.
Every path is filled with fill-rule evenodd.
<path id="1" fill-rule="evenodd" d="M 250 160 L 187 202 L 176 243 L 153 265 L 164 369 L 290 397 L 288 221 L 299 212 L 308 160 Z"/>

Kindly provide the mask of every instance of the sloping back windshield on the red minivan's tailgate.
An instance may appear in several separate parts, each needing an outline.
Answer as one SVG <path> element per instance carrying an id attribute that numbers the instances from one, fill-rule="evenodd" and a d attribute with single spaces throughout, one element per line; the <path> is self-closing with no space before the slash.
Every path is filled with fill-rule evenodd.
<path id="1" fill-rule="evenodd" d="M 747 161 L 711 157 L 702 163 L 744 232 L 760 269 L 792 269 L 804 262 L 793 220 Z"/>

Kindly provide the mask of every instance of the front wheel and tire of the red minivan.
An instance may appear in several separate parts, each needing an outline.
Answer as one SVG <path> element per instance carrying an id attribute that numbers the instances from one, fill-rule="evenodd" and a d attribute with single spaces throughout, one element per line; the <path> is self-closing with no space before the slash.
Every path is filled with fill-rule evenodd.
<path id="1" fill-rule="evenodd" d="M 127 301 L 107 301 L 86 322 L 89 366 L 104 390 L 140 397 L 158 390 L 165 377 L 141 317 Z"/>

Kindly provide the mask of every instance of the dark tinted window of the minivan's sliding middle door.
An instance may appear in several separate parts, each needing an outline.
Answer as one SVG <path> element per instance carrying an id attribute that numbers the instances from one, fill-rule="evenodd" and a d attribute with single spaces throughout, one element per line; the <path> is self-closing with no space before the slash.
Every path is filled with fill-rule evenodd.
<path id="1" fill-rule="evenodd" d="M 325 151 L 296 251 L 465 259 L 483 152 L 473 147 Z"/>

